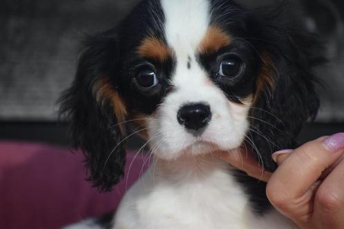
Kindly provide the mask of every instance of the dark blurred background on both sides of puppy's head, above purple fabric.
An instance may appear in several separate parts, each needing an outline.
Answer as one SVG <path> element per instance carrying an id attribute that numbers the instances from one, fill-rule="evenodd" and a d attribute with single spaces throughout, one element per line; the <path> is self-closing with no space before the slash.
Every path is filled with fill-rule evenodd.
<path id="1" fill-rule="evenodd" d="M 66 124 L 57 124 L 57 98 L 73 80 L 84 33 L 114 26 L 135 0 L 2 0 L 0 3 L 0 139 L 66 145 Z M 248 8 L 279 0 L 241 0 Z M 329 63 L 316 123 L 301 139 L 344 131 L 344 2 L 289 1 L 299 23 L 326 41 Z M 134 139 L 134 148 L 135 148 Z"/>

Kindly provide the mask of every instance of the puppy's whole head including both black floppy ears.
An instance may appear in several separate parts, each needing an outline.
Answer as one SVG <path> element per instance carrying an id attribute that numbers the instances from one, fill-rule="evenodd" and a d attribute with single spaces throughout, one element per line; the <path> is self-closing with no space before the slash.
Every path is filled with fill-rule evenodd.
<path id="1" fill-rule="evenodd" d="M 161 159 L 246 140 L 272 170 L 271 152 L 292 147 L 318 108 L 313 41 L 232 1 L 142 1 L 86 41 L 62 98 L 90 179 L 103 189 L 120 180 L 132 122 Z"/>

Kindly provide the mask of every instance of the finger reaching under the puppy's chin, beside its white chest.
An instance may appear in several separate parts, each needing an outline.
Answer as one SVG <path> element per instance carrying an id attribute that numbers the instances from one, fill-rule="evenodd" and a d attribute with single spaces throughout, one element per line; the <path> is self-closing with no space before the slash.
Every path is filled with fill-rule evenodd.
<path id="1" fill-rule="evenodd" d="M 271 177 L 270 172 L 263 170 L 262 166 L 254 159 L 251 152 L 247 150 L 231 150 L 230 152 L 219 152 L 218 157 L 227 161 L 231 166 L 246 172 L 250 177 L 259 179 L 260 181 L 269 181 Z"/>

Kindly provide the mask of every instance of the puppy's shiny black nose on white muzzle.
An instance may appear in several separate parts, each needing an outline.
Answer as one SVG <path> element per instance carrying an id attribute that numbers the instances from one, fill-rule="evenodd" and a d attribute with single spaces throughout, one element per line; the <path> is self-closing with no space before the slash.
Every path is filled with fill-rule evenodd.
<path id="1" fill-rule="evenodd" d="M 178 112 L 178 122 L 189 130 L 200 130 L 211 120 L 210 106 L 202 103 L 183 106 Z"/>

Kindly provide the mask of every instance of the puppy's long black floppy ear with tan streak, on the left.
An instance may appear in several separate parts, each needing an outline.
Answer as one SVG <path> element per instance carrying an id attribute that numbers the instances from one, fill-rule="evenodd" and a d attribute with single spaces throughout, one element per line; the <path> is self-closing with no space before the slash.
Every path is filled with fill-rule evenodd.
<path id="1" fill-rule="evenodd" d="M 62 94 L 60 115 L 84 150 L 88 179 L 102 191 L 124 176 L 126 106 L 116 90 L 117 37 L 108 30 L 86 38 L 73 85 Z"/>

